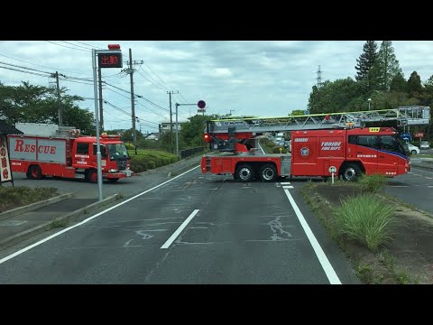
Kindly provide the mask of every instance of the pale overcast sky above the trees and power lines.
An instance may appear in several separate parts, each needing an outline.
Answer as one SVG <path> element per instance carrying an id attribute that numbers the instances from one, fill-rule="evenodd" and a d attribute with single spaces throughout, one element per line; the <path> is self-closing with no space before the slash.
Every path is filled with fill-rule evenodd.
<path id="1" fill-rule="evenodd" d="M 379 47 L 382 41 L 376 42 Z M 106 50 L 107 44 L 120 44 L 124 68 L 129 49 L 133 60 L 143 61 L 135 66 L 134 93 L 143 96 L 136 99 L 135 115 L 144 133 L 157 132 L 158 123 L 170 120 L 168 90 L 180 92 L 172 97 L 173 113 L 175 102 L 194 104 L 200 99 L 207 103 L 207 114 L 287 116 L 294 109 L 305 109 L 317 83 L 318 66 L 322 81 L 354 78 L 364 41 L 3 41 L 0 82 L 16 86 L 29 81 L 48 87 L 54 79 L 42 72 L 58 70 L 73 78 L 60 80 L 60 87 L 68 88 L 69 95 L 88 98 L 79 106 L 94 112 L 91 49 Z M 413 70 L 422 81 L 433 74 L 433 42 L 392 45 L 406 79 Z M 10 64 L 43 76 L 6 70 L 23 70 Z M 120 108 L 104 106 L 106 129 L 131 127 L 131 116 L 124 114 L 131 114 L 130 78 L 121 70 L 102 70 L 102 79 L 116 87 L 105 86 L 103 98 Z M 197 108 L 180 106 L 180 120 L 197 114 Z"/>

